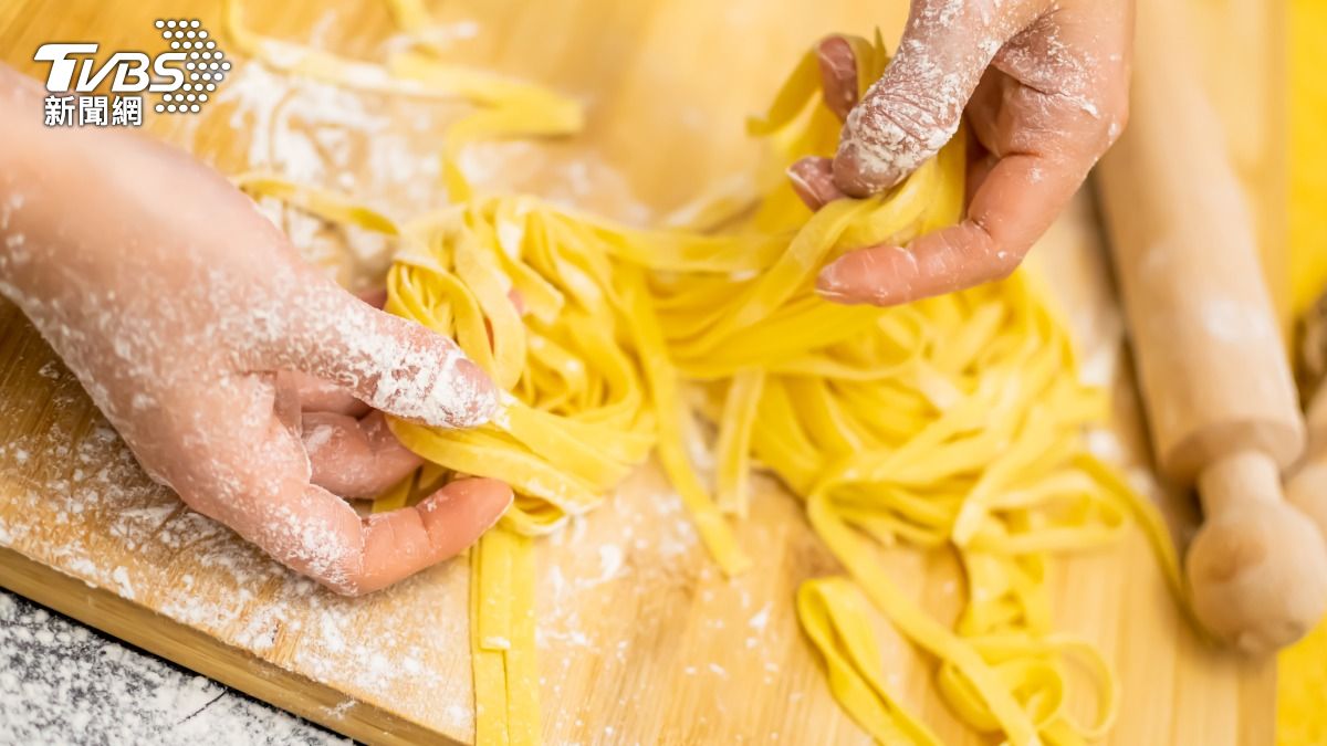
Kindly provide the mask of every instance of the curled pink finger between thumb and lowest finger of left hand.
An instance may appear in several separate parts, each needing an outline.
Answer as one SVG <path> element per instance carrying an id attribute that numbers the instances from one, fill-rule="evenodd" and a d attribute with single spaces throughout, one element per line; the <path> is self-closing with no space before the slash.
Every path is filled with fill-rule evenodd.
<path id="1" fill-rule="evenodd" d="M 309 481 L 342 498 L 381 495 L 423 463 L 397 441 L 381 411 L 362 419 L 307 411 L 303 425 Z"/>

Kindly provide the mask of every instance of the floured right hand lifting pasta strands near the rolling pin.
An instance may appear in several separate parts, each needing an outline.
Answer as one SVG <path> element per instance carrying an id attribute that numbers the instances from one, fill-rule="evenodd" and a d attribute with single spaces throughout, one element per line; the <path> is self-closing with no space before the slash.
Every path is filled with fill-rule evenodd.
<path id="1" fill-rule="evenodd" d="M 847 254 L 820 272 L 820 293 L 893 305 L 1013 272 L 1124 129 L 1132 32 L 1132 0 L 913 0 L 860 102 L 851 48 L 824 40 L 825 102 L 845 121 L 832 161 L 790 169 L 812 208 L 898 183 L 965 113 L 975 142 L 962 223 Z"/>

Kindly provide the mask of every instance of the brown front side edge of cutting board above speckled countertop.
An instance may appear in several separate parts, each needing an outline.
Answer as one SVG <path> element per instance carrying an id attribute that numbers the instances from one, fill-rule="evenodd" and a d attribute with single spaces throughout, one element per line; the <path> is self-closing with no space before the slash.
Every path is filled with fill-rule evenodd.
<path id="1" fill-rule="evenodd" d="M 382 745 L 463 745 L 7 547 L 0 547 L 0 588 L 348 738 Z M 236 666 L 236 660 L 247 665 Z M 346 701 L 353 704 L 345 706 Z"/>

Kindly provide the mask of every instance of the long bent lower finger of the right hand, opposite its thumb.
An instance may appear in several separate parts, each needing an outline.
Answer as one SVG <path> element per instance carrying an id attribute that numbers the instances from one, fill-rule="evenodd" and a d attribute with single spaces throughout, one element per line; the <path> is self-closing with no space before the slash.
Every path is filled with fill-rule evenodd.
<path id="1" fill-rule="evenodd" d="M 1105 15 L 1103 15 L 1105 13 Z M 1009 275 L 1083 183 L 1128 118 L 1128 13 L 1096 4 L 1039 19 L 1001 52 L 974 122 L 993 166 L 974 163 L 967 219 L 906 251 L 877 247 L 821 271 L 841 303 L 892 305 Z M 1046 77 L 1035 60 L 1052 60 Z M 1095 58 L 1105 60 L 1093 64 Z M 995 102 L 998 101 L 998 106 Z"/>

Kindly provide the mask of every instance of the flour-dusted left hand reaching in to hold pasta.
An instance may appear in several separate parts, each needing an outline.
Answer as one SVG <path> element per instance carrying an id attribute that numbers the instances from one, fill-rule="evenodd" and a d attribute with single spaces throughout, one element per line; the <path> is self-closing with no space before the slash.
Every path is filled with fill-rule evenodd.
<path id="1" fill-rule="evenodd" d="M 183 154 L 44 127 L 42 92 L 16 78 L 0 65 L 0 293 L 153 478 L 342 593 L 446 559 L 498 520 L 512 495 L 491 479 L 364 519 L 342 499 L 419 463 L 382 411 L 453 427 L 492 414 L 492 384 L 450 340 L 307 267 Z"/>

